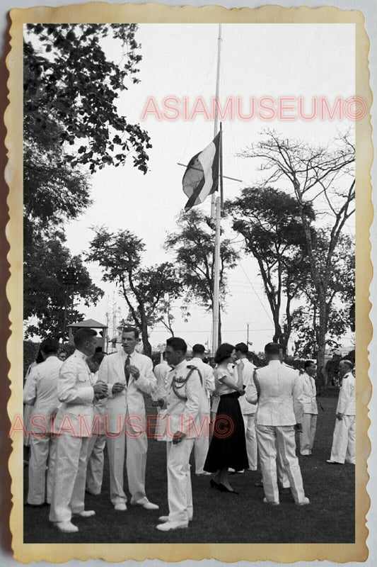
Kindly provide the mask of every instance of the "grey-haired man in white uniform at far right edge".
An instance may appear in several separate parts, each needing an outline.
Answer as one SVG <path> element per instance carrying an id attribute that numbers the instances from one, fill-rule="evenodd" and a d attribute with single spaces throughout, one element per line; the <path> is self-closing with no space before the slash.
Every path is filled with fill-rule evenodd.
<path id="1" fill-rule="evenodd" d="M 339 363 L 339 374 L 342 378 L 339 399 L 337 403 L 337 419 L 334 436 L 332 437 L 331 456 L 327 463 L 344 464 L 356 463 L 355 453 L 355 419 L 356 419 L 356 383 L 352 369 L 354 365 L 349 360 Z"/>

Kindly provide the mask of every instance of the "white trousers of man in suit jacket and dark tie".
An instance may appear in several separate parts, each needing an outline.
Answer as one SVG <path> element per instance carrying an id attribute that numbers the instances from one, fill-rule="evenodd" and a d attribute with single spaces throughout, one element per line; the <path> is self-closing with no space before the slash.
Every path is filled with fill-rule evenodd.
<path id="1" fill-rule="evenodd" d="M 148 439 L 146 432 L 126 430 L 117 437 L 107 437 L 110 464 L 110 499 L 113 505 L 127 502 L 123 488 L 124 448 L 127 439 L 127 481 L 128 489 L 135 503 L 146 502 L 145 469 Z"/>

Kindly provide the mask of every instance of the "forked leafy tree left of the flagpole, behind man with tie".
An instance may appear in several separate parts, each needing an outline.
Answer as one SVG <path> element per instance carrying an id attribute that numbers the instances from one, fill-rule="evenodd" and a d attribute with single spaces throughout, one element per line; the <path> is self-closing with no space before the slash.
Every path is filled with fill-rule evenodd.
<path id="1" fill-rule="evenodd" d="M 141 330 L 144 353 L 150 355 L 149 327 L 163 318 L 166 297 L 180 296 L 182 283 L 169 262 L 143 267 L 144 249 L 144 242 L 129 230 L 108 232 L 98 228 L 86 257 L 103 268 L 103 281 L 117 283 L 134 324 Z"/>

